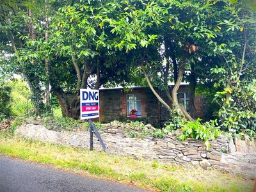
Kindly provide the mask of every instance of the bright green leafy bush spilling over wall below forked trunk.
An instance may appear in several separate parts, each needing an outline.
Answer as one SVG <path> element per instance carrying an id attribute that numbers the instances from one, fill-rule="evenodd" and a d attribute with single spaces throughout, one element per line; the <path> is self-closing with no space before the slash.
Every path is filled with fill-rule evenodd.
<path id="1" fill-rule="evenodd" d="M 220 127 L 217 127 L 217 120 L 206 122 L 201 124 L 201 119 L 198 118 L 196 122 L 186 121 L 180 125 L 183 131 L 178 138 L 182 141 L 188 138 L 195 138 L 196 140 L 204 141 L 207 149 L 210 148 L 209 140 L 214 140 L 216 137 L 220 136 Z"/>

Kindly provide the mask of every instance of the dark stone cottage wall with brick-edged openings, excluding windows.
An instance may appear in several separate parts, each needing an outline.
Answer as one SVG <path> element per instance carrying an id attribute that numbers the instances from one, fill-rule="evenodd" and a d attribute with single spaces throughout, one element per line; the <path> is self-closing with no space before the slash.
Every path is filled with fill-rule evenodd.
<path id="1" fill-rule="evenodd" d="M 159 95 L 171 106 L 170 101 L 164 92 L 156 90 Z M 189 92 L 186 86 L 180 86 L 179 92 Z M 131 120 L 127 117 L 127 94 L 140 93 L 141 95 L 141 117 L 136 120 L 163 127 L 168 121 L 169 112 L 157 100 L 149 88 L 133 88 L 132 91 L 124 92 L 122 88 L 100 90 L 100 117 L 99 122 L 106 123 L 113 120 Z M 204 118 L 205 102 L 201 95 L 195 97 L 195 107 L 198 117 Z"/>

